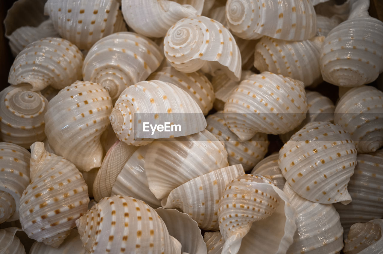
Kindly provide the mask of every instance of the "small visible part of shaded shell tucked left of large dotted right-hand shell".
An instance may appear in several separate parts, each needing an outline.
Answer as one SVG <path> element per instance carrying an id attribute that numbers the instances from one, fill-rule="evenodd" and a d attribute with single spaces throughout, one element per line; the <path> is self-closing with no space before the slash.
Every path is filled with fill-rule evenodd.
<path id="1" fill-rule="evenodd" d="M 278 167 L 279 155 L 273 153 L 255 165 L 251 174 L 267 176 L 278 188 L 283 189 L 286 179 L 283 177 L 281 170 Z"/>

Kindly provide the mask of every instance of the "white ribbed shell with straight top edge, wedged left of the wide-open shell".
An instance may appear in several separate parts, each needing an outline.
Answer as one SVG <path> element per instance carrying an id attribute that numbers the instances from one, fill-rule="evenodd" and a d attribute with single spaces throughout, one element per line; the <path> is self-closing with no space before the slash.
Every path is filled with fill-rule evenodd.
<path id="1" fill-rule="evenodd" d="M 173 189 L 161 201 L 164 208 L 179 208 L 204 230 L 218 230 L 218 201 L 226 185 L 243 175 L 241 164 L 214 170 Z"/>

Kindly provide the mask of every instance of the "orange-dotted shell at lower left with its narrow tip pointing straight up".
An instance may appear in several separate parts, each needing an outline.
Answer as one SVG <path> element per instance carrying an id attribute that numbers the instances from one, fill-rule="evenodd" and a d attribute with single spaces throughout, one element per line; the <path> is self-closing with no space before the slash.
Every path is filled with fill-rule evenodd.
<path id="1" fill-rule="evenodd" d="M 88 186 L 80 171 L 61 156 L 31 146 L 31 180 L 20 199 L 20 223 L 29 238 L 58 247 L 88 207 Z"/>

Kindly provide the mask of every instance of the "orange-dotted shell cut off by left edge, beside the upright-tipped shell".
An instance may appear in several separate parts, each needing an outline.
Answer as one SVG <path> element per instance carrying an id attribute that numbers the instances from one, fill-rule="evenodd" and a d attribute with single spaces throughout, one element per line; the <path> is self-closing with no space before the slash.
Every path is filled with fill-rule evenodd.
<path id="1" fill-rule="evenodd" d="M 11 143 L 0 143 L 0 223 L 19 219 L 20 197 L 29 182 L 31 154 Z"/>

